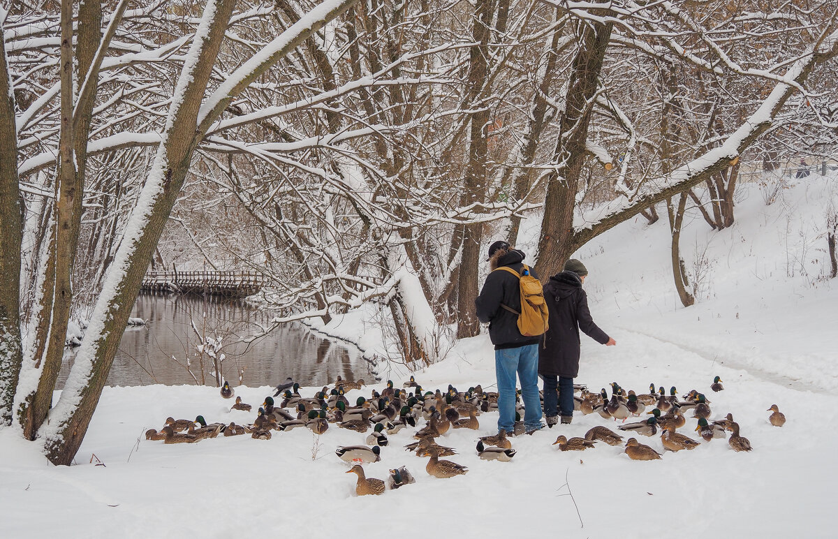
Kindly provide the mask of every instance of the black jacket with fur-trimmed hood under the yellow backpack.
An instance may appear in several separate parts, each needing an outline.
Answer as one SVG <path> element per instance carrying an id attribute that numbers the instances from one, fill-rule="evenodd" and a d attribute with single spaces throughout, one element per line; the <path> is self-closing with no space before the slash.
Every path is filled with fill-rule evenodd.
<path id="1" fill-rule="evenodd" d="M 521 267 L 524 266 L 524 257 L 523 251 L 509 251 L 499 258 L 498 267 L 508 266 L 520 274 Z M 530 268 L 530 274 L 538 278 L 532 268 Z M 504 303 L 504 305 L 514 308 L 520 313 L 520 281 L 518 277 L 505 270 L 496 270 L 489 273 L 489 277 L 486 277 L 486 282 L 484 282 L 483 290 L 474 300 L 474 306 L 477 308 L 477 318 L 481 322 L 489 322 L 489 338 L 492 339 L 494 350 L 537 345 L 541 342 L 540 336 L 525 337 L 522 335 L 518 330 L 518 315 L 510 313 L 510 311 L 501 307 L 500 303 Z"/>

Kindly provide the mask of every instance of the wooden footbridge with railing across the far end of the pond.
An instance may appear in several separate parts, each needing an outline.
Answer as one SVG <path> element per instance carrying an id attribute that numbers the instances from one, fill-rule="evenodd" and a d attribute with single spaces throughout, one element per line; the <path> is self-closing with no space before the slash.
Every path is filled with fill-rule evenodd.
<path id="1" fill-rule="evenodd" d="M 266 280 L 259 272 L 147 272 L 141 290 L 245 298 L 259 292 Z"/>

